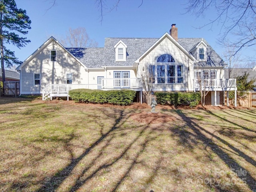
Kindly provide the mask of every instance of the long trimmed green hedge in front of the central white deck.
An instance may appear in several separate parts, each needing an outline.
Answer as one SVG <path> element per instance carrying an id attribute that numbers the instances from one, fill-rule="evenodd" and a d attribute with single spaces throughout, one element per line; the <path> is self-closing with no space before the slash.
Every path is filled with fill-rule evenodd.
<path id="1" fill-rule="evenodd" d="M 75 102 L 129 105 L 133 102 L 136 92 L 133 90 L 91 90 L 74 89 L 69 91 L 70 98 Z"/>

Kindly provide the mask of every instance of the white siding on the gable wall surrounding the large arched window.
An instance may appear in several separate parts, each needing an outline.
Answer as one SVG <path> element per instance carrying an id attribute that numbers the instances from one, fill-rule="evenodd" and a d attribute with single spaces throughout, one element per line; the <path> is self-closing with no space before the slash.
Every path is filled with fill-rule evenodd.
<path id="1" fill-rule="evenodd" d="M 153 89 L 158 91 L 193 91 L 193 60 L 191 60 L 182 50 L 180 50 L 180 48 L 173 44 L 168 38 L 164 38 L 162 42 L 160 42 L 154 48 L 154 50 L 152 50 L 141 60 L 138 67 L 138 75 L 140 76 L 143 66 L 145 69 L 147 69 L 149 64 L 156 65 L 158 57 L 162 54 L 172 55 L 176 65 L 183 65 L 183 83 L 154 84 Z"/>

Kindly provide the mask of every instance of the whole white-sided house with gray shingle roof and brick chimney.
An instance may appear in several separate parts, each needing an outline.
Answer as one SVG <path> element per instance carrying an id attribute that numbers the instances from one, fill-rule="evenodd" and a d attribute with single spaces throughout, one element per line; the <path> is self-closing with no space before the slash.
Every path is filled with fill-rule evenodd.
<path id="1" fill-rule="evenodd" d="M 152 91 L 208 90 L 206 104 L 224 104 L 236 92 L 236 79 L 225 79 L 226 64 L 202 38 L 178 38 L 172 24 L 160 38 L 105 38 L 104 48 L 65 48 L 50 37 L 18 68 L 20 94 L 66 96 L 76 88 L 132 89 L 142 102 L 142 74 Z"/>

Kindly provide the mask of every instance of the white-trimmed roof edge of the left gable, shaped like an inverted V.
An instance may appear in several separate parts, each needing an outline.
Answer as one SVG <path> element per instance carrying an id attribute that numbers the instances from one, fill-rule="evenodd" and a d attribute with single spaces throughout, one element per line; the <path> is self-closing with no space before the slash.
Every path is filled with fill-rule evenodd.
<path id="1" fill-rule="evenodd" d="M 46 40 L 46 42 L 44 42 L 44 44 L 42 44 L 34 53 L 32 53 L 22 64 L 20 64 L 16 70 L 21 70 L 21 68 L 27 64 L 30 60 L 32 60 L 36 54 L 38 54 L 42 49 L 44 49 L 46 46 L 48 46 L 52 41 L 55 41 L 59 46 L 61 46 L 64 50 L 66 50 L 66 48 L 64 48 L 64 46 L 62 44 L 60 44 L 60 42 L 58 42 L 53 36 L 51 36 L 48 40 Z M 72 56 L 78 63 L 80 63 L 84 68 L 86 68 L 86 66 L 84 66 L 84 64 L 78 60 L 78 58 L 76 58 L 73 54 L 71 54 L 68 50 L 66 50 L 68 52 L 68 54 L 70 54 L 70 56 Z"/>

